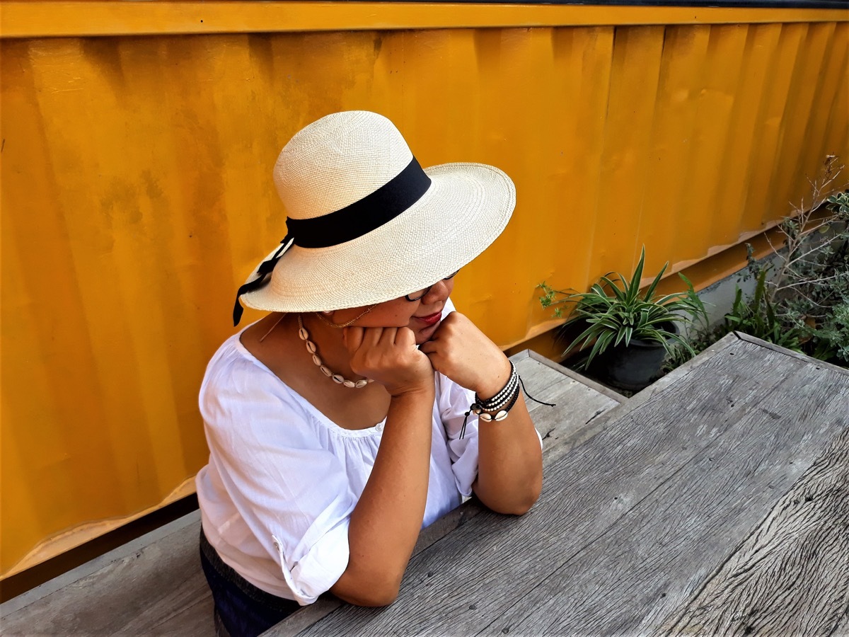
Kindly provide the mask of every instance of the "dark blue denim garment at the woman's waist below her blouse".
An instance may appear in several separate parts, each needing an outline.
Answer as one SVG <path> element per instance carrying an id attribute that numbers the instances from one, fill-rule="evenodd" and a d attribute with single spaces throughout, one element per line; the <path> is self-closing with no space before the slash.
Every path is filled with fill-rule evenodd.
<path id="1" fill-rule="evenodd" d="M 257 589 L 228 567 L 200 530 L 200 564 L 215 602 L 218 637 L 256 637 L 301 606 Z"/>

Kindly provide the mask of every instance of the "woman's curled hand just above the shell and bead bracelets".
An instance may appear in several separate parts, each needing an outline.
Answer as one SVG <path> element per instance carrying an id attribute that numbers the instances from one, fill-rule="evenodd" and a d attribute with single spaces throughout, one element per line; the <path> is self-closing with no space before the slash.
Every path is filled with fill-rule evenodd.
<path id="1" fill-rule="evenodd" d="M 433 369 L 481 398 L 495 396 L 510 377 L 509 360 L 503 352 L 458 312 L 443 318 L 419 350 L 430 358 Z"/>

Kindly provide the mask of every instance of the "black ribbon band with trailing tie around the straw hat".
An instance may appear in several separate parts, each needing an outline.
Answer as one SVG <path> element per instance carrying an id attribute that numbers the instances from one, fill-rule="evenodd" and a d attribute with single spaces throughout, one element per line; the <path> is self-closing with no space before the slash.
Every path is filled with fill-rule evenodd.
<path id="1" fill-rule="evenodd" d="M 335 212 L 312 219 L 286 219 L 287 234 L 272 256 L 260 263 L 256 279 L 239 287 L 233 306 L 233 326 L 238 325 L 244 308 L 239 302 L 246 292 L 259 290 L 291 245 L 301 248 L 327 248 L 368 234 L 406 211 L 430 188 L 430 178 L 416 158 L 394 178 L 363 199 Z"/>

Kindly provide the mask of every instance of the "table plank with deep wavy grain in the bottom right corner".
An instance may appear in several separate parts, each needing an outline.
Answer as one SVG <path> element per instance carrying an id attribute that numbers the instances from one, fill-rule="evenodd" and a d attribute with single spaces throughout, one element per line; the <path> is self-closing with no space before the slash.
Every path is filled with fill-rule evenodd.
<path id="1" fill-rule="evenodd" d="M 849 429 L 658 634 L 838 634 L 846 612 Z"/>

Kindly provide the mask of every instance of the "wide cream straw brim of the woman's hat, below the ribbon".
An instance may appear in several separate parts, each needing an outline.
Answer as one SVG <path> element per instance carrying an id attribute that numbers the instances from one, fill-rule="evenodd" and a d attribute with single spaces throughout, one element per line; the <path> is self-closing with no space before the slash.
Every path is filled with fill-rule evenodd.
<path id="1" fill-rule="evenodd" d="M 292 245 L 269 283 L 245 293 L 242 302 L 267 312 L 363 307 L 423 290 L 463 268 L 507 226 L 516 202 L 513 182 L 485 164 L 442 164 L 424 172 L 430 188 L 406 211 L 339 245 Z M 248 281 L 256 276 L 255 269 Z"/>

